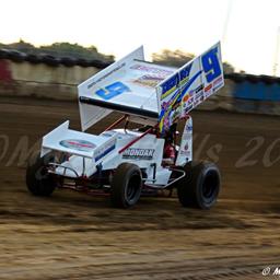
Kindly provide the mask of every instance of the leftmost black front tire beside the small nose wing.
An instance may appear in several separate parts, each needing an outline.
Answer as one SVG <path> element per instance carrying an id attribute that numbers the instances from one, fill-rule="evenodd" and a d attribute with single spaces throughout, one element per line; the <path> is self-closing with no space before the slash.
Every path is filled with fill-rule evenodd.
<path id="1" fill-rule="evenodd" d="M 46 170 L 48 163 L 52 161 L 51 154 L 43 158 L 37 154 L 30 160 L 26 170 L 26 185 L 32 195 L 48 197 L 54 192 L 57 184 L 55 177 Z"/>

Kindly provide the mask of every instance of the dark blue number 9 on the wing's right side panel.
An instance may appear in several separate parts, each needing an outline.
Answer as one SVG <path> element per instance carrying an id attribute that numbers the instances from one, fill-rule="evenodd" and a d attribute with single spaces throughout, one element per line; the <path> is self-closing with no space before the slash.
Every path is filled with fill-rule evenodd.
<path id="1" fill-rule="evenodd" d="M 210 49 L 207 54 L 201 57 L 202 68 L 206 73 L 206 80 L 211 83 L 218 78 L 222 71 L 220 61 L 218 58 L 218 47 Z"/>

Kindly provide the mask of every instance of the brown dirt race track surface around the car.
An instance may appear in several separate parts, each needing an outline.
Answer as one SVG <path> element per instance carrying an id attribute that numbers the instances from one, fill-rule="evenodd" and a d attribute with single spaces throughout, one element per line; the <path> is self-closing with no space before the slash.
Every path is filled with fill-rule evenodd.
<path id="1" fill-rule="evenodd" d="M 31 196 L 28 152 L 66 119 L 79 129 L 78 106 L 1 98 L 0 279 L 264 279 L 268 266 L 272 273 L 280 267 L 280 118 L 192 117 L 195 158 L 221 168 L 218 205 L 184 209 L 174 196 L 116 210 L 107 198 L 68 190 Z"/>

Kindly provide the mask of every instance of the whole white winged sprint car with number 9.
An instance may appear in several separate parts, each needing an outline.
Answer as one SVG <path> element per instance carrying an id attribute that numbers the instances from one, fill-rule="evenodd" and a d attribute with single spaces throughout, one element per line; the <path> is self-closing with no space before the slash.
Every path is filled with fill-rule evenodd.
<path id="1" fill-rule="evenodd" d="M 136 49 L 78 86 L 82 132 L 66 121 L 43 138 L 26 170 L 28 190 L 105 194 L 128 208 L 143 190 L 176 188 L 184 207 L 211 208 L 220 173 L 213 163 L 194 163 L 188 114 L 223 84 L 220 43 L 179 69 L 147 62 L 143 48 Z M 122 117 L 98 136 L 84 132 L 112 112 Z M 186 124 L 177 147 L 179 119 Z M 142 127 L 127 129 L 128 122 Z"/>

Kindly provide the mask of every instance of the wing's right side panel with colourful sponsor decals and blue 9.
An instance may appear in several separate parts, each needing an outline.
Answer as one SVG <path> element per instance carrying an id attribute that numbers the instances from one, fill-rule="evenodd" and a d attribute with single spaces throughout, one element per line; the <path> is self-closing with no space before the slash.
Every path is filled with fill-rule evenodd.
<path id="1" fill-rule="evenodd" d="M 221 46 L 218 43 L 156 86 L 160 131 L 185 117 L 223 85 Z"/>

